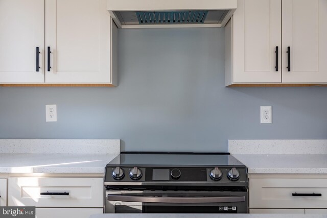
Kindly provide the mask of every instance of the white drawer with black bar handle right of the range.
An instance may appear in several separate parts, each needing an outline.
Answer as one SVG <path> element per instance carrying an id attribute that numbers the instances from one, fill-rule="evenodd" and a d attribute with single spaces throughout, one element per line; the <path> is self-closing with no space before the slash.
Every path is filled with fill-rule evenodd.
<path id="1" fill-rule="evenodd" d="M 321 196 L 293 196 L 293 194 Z M 327 179 L 250 179 L 250 208 L 327 208 Z"/>

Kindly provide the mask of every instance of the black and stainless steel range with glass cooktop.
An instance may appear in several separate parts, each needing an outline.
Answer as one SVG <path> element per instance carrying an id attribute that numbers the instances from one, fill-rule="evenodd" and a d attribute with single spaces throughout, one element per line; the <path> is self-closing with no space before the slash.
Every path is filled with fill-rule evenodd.
<path id="1" fill-rule="evenodd" d="M 105 213 L 247 213 L 248 185 L 228 153 L 123 152 L 106 166 Z"/>

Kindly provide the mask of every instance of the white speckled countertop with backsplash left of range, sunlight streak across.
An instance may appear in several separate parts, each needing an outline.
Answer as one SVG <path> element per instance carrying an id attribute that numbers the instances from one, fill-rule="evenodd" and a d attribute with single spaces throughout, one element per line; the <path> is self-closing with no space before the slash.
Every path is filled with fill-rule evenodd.
<path id="1" fill-rule="evenodd" d="M 120 140 L 0 139 L 0 173 L 104 173 Z"/>

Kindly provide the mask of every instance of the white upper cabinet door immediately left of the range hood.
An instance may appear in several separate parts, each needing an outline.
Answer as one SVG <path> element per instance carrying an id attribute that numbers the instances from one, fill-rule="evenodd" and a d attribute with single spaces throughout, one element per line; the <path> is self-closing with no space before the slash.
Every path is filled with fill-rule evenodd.
<path id="1" fill-rule="evenodd" d="M 45 83 L 112 83 L 107 1 L 45 0 L 45 50 Z"/>

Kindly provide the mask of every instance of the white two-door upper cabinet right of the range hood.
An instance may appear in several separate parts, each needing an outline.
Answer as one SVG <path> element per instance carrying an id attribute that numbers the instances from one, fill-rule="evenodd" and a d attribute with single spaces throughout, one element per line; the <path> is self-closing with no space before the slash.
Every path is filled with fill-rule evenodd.
<path id="1" fill-rule="evenodd" d="M 324 20 L 326 0 L 238 0 L 225 29 L 225 85 L 327 83 Z"/>

